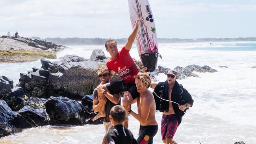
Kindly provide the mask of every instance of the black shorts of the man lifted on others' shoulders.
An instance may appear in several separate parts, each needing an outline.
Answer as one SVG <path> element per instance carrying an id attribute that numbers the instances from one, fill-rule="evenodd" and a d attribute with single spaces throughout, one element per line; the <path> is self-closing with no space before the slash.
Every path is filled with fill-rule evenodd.
<path id="1" fill-rule="evenodd" d="M 111 94 L 118 94 L 120 92 L 128 91 L 134 100 L 139 96 L 135 83 L 124 83 L 124 81 L 113 81 L 106 83 L 106 87 Z"/>

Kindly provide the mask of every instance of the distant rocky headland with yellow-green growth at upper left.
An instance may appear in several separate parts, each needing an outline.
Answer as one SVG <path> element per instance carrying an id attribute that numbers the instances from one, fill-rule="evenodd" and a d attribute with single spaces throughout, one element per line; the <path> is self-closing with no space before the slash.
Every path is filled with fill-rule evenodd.
<path id="1" fill-rule="evenodd" d="M 27 37 L 0 36 L 0 63 L 21 63 L 40 58 L 54 59 L 65 46 Z"/>

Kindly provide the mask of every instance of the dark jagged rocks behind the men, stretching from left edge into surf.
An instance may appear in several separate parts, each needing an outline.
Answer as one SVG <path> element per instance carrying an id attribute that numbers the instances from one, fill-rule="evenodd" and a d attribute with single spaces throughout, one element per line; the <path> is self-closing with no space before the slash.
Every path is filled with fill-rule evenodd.
<path id="1" fill-rule="evenodd" d="M 22 129 L 59 125 L 100 124 L 92 121 L 93 89 L 100 83 L 96 71 L 106 65 L 108 57 L 102 50 L 94 50 L 89 59 L 65 55 L 59 61 L 41 59 L 41 68 L 33 67 L 28 73 L 20 73 L 19 83 L 0 76 L 0 137 Z M 134 60 L 139 69 L 141 61 Z M 170 68 L 158 66 L 151 75 L 157 81 L 159 73 Z M 197 72 L 217 72 L 209 66 L 177 66 L 179 79 L 199 77 Z M 120 80 L 115 74 L 111 81 Z"/>

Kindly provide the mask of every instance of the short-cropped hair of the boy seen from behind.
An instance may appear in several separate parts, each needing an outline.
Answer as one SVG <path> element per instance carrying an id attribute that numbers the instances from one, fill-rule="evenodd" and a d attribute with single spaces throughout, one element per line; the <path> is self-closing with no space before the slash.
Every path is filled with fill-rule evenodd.
<path id="1" fill-rule="evenodd" d="M 125 111 L 124 107 L 122 107 L 121 105 L 115 105 L 110 110 L 110 115 L 112 116 L 113 121 L 119 123 L 119 122 L 123 122 L 125 120 L 126 111 Z"/>

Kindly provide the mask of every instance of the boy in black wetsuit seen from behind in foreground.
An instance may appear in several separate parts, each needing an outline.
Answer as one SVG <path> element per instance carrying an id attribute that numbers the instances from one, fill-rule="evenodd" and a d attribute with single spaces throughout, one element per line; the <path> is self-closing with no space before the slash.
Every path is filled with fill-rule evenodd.
<path id="1" fill-rule="evenodd" d="M 109 120 L 115 127 L 107 134 L 108 144 L 138 144 L 132 132 L 122 123 L 127 119 L 124 107 L 116 105 L 110 110 Z"/>

